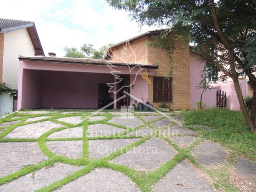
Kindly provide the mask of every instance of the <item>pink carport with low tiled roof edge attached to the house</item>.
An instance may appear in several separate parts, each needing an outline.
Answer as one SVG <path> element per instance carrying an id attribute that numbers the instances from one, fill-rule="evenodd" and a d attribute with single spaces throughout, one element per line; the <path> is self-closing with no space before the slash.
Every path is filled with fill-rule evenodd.
<path id="1" fill-rule="evenodd" d="M 120 84 L 113 84 L 109 92 L 107 83 L 116 82 L 110 67 L 121 77 L 128 92 L 138 98 L 148 98 L 148 83 L 138 73 L 139 68 L 130 71 L 127 64 L 109 60 L 57 58 L 46 56 L 20 56 L 18 110 L 35 108 L 100 108 L 102 100 L 120 97 L 116 93 Z M 129 64 L 129 66 L 136 66 Z M 157 66 L 143 65 L 149 75 L 154 75 Z M 126 99 L 127 100 L 127 99 Z M 131 105 L 134 100 L 128 100 Z M 115 103 L 119 108 L 122 103 Z"/>

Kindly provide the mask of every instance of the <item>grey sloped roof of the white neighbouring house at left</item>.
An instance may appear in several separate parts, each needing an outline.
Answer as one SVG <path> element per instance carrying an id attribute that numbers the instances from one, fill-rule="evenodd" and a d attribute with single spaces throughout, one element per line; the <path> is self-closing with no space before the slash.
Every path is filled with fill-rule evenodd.
<path id="1" fill-rule="evenodd" d="M 24 28 L 26 28 L 28 31 L 28 34 L 35 49 L 35 55 L 44 56 L 44 50 L 38 37 L 34 22 L 0 18 L 0 33 L 11 32 Z"/>

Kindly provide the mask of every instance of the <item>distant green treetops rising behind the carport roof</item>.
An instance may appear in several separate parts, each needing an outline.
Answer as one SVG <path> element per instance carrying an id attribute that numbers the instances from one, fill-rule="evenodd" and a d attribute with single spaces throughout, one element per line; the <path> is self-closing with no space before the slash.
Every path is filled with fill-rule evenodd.
<path id="1" fill-rule="evenodd" d="M 90 59 L 103 59 L 104 53 L 106 52 L 108 46 L 111 46 L 112 43 L 102 46 L 99 50 L 93 48 L 92 44 L 83 44 L 80 48 L 81 51 L 78 51 L 77 48 L 65 48 L 66 54 L 64 57 L 73 57 L 73 58 L 90 58 Z"/>

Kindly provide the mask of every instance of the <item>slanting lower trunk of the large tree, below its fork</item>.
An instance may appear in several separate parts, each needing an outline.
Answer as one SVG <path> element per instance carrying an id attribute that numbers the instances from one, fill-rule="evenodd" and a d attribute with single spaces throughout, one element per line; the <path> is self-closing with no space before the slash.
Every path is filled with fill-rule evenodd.
<path id="1" fill-rule="evenodd" d="M 244 98 L 243 98 L 243 95 L 242 95 L 242 92 L 241 92 L 241 89 L 240 89 L 240 84 L 239 84 L 238 78 L 234 78 L 233 82 L 234 82 L 234 88 L 236 90 L 236 95 L 237 95 L 237 98 L 238 98 L 238 102 L 240 104 L 240 108 L 241 108 L 242 113 L 244 115 L 244 119 L 245 119 L 246 123 L 248 124 L 248 126 L 250 128 L 250 131 L 253 132 L 254 131 L 254 124 L 252 122 L 252 119 L 250 118 L 249 112 L 246 108 L 246 104 L 244 103 Z"/>

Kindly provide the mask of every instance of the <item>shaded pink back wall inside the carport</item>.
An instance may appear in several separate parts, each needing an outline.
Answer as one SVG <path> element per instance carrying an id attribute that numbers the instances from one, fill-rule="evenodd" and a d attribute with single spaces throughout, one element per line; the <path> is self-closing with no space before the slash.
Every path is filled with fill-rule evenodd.
<path id="1" fill-rule="evenodd" d="M 111 74 L 44 71 L 43 107 L 98 108 L 98 84 L 110 82 Z"/>

